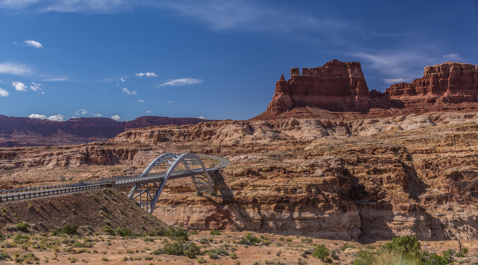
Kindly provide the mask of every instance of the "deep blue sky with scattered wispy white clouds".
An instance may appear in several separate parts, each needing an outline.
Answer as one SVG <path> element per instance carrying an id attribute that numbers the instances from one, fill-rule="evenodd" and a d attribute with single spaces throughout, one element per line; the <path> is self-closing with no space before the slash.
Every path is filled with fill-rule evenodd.
<path id="1" fill-rule="evenodd" d="M 369 89 L 478 64 L 461 1 L 0 0 L 0 114 L 250 119 L 292 67 L 359 61 Z"/>

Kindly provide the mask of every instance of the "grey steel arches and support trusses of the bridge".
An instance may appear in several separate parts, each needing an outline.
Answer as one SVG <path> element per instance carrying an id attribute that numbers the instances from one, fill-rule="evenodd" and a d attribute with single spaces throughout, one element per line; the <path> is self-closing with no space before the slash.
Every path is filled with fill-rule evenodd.
<path id="1" fill-rule="evenodd" d="M 174 172 L 174 169 L 179 165 L 184 165 L 185 170 Z M 156 157 L 141 173 L 139 179 L 147 177 L 148 173 L 154 166 L 166 166 L 169 167 L 168 171 L 164 177 L 154 178 L 154 179 L 145 179 L 139 183 L 136 183 L 135 186 L 132 186 L 128 189 L 128 197 L 133 200 L 139 198 L 139 203 L 141 207 L 146 208 L 147 212 L 152 213 L 156 202 L 163 191 L 164 185 L 169 179 L 184 177 L 187 175 L 188 171 L 195 173 L 191 176 L 191 180 L 196 189 L 196 195 L 201 195 L 203 192 L 208 192 L 211 195 L 214 195 L 213 182 L 207 173 L 206 166 L 202 162 L 201 158 L 193 153 L 186 153 L 182 155 L 174 153 L 165 153 Z M 201 166 L 202 171 L 192 171 L 190 166 Z M 214 173 L 213 173 L 214 174 Z M 143 178 L 144 179 L 144 178 Z M 143 194 L 146 194 L 146 201 L 143 201 Z"/>

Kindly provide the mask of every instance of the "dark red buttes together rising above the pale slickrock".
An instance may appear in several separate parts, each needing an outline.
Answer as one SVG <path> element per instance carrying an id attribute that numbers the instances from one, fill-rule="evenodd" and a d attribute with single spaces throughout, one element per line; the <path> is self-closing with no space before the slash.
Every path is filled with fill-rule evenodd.
<path id="1" fill-rule="evenodd" d="M 426 66 L 424 77 L 394 84 L 384 93 L 369 91 L 359 62 L 332 60 L 324 66 L 291 68 L 291 78 L 276 82 L 267 110 L 254 119 L 288 116 L 366 118 L 475 110 L 478 66 L 446 62 Z"/>

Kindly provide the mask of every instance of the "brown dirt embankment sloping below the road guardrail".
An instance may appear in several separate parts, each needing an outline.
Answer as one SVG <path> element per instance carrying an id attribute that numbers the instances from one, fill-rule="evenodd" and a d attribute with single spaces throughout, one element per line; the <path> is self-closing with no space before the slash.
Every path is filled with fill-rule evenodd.
<path id="1" fill-rule="evenodd" d="M 100 231 L 105 225 L 134 233 L 164 226 L 126 195 L 110 188 L 3 202 L 0 207 L 0 229 L 3 231 L 19 222 L 26 223 L 31 232 L 61 230 L 65 224 L 77 225 L 81 234 L 86 234 L 88 229 Z"/>

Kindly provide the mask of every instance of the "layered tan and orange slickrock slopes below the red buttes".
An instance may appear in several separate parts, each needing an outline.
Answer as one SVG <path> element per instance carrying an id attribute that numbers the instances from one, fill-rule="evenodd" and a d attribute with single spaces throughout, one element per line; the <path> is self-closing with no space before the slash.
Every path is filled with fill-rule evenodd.
<path id="1" fill-rule="evenodd" d="M 138 174 L 164 150 L 192 151 L 232 164 L 215 176 L 217 196 L 197 197 L 189 178 L 168 182 L 153 214 L 169 225 L 364 243 L 402 234 L 471 240 L 478 236 L 477 121 L 477 112 L 432 112 L 149 127 L 103 144 L 2 148 L 0 181 L 18 188 L 60 176 L 69 183 Z"/>

